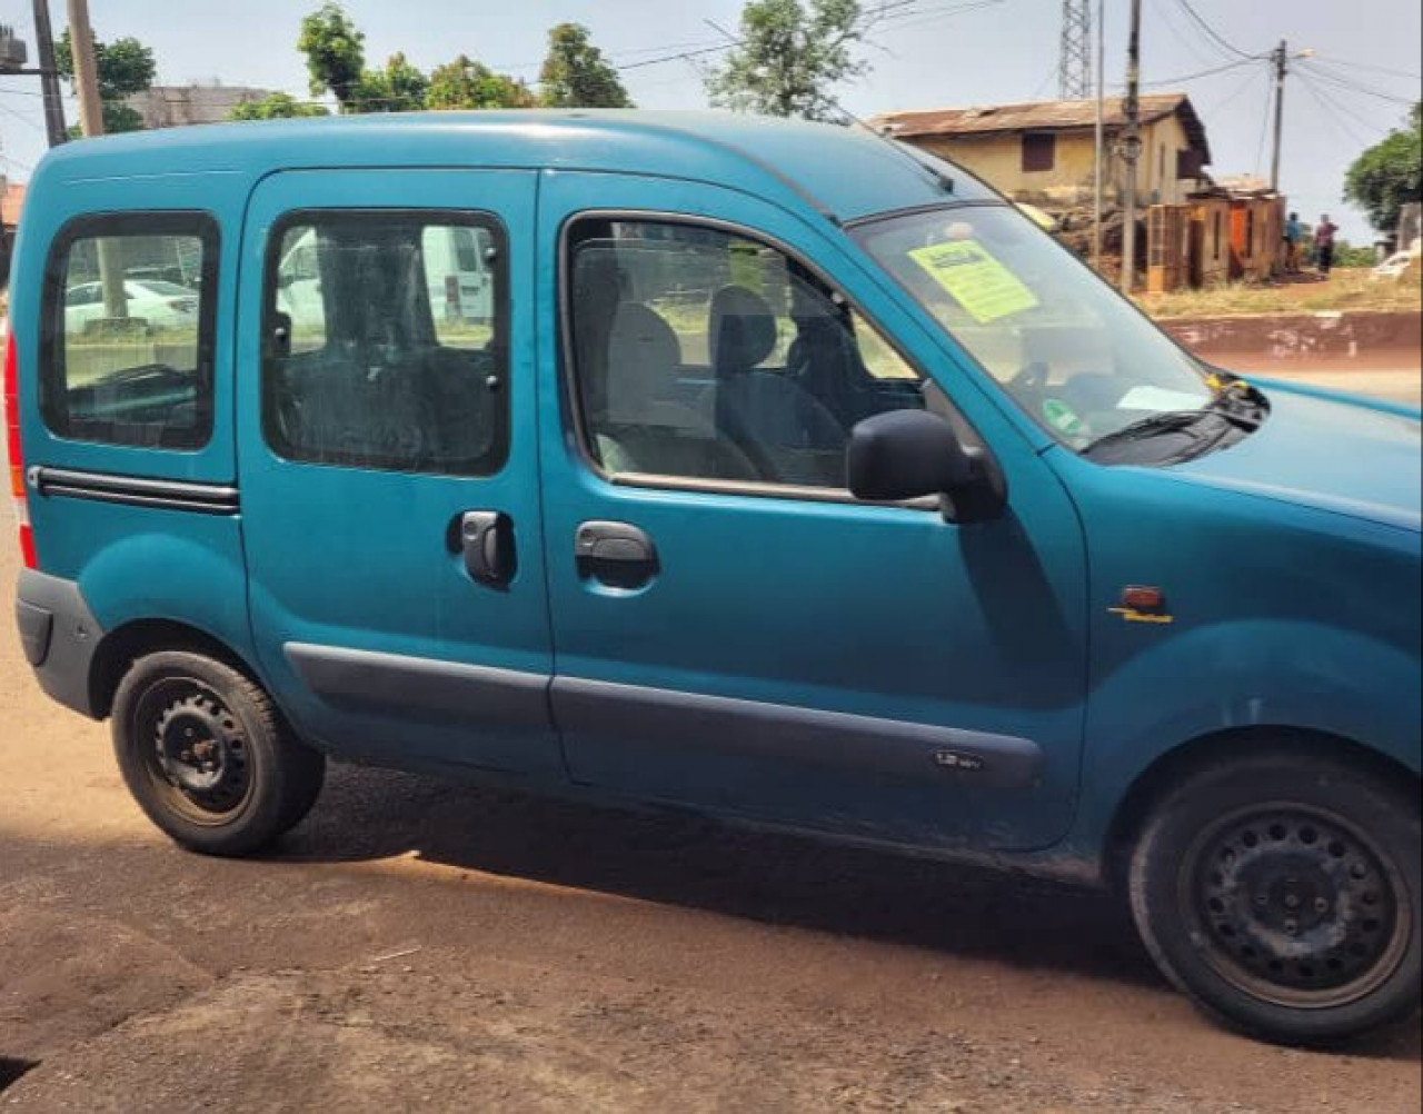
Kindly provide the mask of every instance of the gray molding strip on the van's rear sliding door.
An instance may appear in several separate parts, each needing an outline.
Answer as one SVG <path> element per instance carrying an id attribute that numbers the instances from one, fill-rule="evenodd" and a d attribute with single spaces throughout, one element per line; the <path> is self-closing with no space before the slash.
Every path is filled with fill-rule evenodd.
<path id="1" fill-rule="evenodd" d="M 336 707 L 551 731 L 548 676 L 430 657 L 289 642 L 292 669 Z"/>

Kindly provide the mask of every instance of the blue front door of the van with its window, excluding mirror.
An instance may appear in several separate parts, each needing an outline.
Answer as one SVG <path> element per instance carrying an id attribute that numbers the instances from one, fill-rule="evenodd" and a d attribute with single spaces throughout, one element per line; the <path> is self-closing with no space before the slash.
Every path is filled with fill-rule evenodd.
<path id="1" fill-rule="evenodd" d="M 712 185 L 541 189 L 552 707 L 575 781 L 915 845 L 1050 844 L 1084 558 L 1033 445 L 828 222 Z M 1006 511 L 871 505 L 844 451 L 929 405 Z"/>

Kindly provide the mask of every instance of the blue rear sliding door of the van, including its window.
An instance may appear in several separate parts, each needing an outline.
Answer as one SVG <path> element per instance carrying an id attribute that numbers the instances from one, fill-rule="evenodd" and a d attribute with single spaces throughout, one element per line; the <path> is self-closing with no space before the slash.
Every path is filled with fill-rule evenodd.
<path id="1" fill-rule="evenodd" d="M 562 778 L 538 506 L 535 176 L 297 171 L 245 229 L 239 472 L 265 679 L 323 747 Z M 484 320 L 430 302 L 477 236 Z M 313 273 L 314 272 L 314 273 Z M 305 312 L 283 293 L 303 286 Z"/>

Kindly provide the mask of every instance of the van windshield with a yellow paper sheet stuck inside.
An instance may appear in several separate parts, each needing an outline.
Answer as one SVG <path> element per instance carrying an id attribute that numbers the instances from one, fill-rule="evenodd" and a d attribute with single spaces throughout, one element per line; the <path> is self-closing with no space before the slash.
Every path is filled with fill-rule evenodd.
<path id="1" fill-rule="evenodd" d="M 1015 209 L 935 209 L 855 235 L 1072 448 L 1217 397 L 1195 361 Z"/>

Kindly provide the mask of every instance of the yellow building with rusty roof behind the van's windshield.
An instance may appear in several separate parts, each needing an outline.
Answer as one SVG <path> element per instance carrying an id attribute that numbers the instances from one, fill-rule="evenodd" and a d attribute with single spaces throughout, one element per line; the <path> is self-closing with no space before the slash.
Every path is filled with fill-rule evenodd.
<path id="1" fill-rule="evenodd" d="M 896 139 L 953 159 L 1015 201 L 1054 212 L 1091 205 L 1096 118 L 1096 101 L 1040 101 L 887 112 L 871 122 Z M 1184 92 L 1141 97 L 1140 120 L 1137 203 L 1184 202 L 1207 181 L 1211 148 L 1205 125 Z M 1116 205 L 1126 188 L 1123 162 L 1111 154 L 1126 127 L 1121 98 L 1106 101 L 1104 125 L 1104 193 Z"/>

